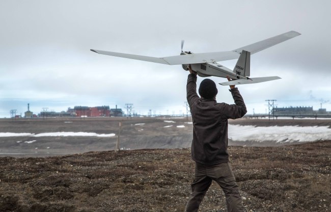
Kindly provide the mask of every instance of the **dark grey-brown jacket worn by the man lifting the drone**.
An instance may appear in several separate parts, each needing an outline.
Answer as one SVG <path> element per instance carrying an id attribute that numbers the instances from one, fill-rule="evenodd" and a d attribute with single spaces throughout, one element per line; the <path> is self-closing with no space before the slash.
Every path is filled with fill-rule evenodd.
<path id="1" fill-rule="evenodd" d="M 192 159 L 205 165 L 228 162 L 228 119 L 241 118 L 247 113 L 238 89 L 230 89 L 235 104 L 200 98 L 197 76 L 189 74 L 186 92 L 193 121 Z"/>

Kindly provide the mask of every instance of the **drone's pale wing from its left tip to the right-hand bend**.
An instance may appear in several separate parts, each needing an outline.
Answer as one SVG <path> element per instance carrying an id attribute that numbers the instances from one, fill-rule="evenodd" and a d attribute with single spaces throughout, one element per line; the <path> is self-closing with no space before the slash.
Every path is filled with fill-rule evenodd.
<path id="1" fill-rule="evenodd" d="M 218 52 L 207 52 L 198 54 L 178 55 L 164 58 L 155 58 L 142 55 L 130 55 L 113 51 L 102 51 L 91 49 L 101 55 L 109 55 L 121 58 L 129 58 L 134 60 L 142 60 L 153 63 L 161 63 L 168 65 L 181 65 L 181 64 L 195 64 L 195 63 L 211 63 L 215 61 L 225 61 L 239 58 L 239 55 L 233 51 L 218 51 Z"/>

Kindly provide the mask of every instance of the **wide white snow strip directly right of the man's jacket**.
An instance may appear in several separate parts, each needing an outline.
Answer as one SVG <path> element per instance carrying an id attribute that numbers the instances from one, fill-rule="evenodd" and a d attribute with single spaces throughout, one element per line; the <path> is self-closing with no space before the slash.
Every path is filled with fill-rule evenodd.
<path id="1" fill-rule="evenodd" d="M 229 124 L 228 137 L 233 141 L 312 142 L 331 140 L 331 129 L 328 126 L 256 127 Z"/>

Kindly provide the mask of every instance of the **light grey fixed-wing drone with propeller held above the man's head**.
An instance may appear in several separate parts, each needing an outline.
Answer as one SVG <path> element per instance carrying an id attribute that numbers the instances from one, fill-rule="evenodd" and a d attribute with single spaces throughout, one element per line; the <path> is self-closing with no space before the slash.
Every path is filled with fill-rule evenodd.
<path id="1" fill-rule="evenodd" d="M 113 51 L 103 51 L 91 49 L 101 55 L 109 55 L 121 58 L 129 58 L 134 60 L 148 61 L 153 63 L 161 63 L 167 65 L 182 65 L 184 70 L 188 70 L 188 66 L 191 65 L 191 69 L 196 71 L 201 77 L 217 76 L 232 79 L 232 81 L 219 83 L 223 86 L 229 85 L 242 85 L 262 83 L 272 80 L 279 80 L 279 76 L 266 76 L 250 78 L 251 75 L 251 55 L 274 46 L 276 44 L 287 41 L 291 38 L 301 35 L 298 32 L 290 31 L 277 35 L 241 48 L 234 49 L 232 51 L 217 51 L 217 52 L 205 52 L 194 54 L 191 51 L 183 51 L 184 41 L 181 42 L 182 51 L 178 56 L 170 56 L 163 58 L 148 57 L 142 55 L 131 55 Z M 226 61 L 238 59 L 233 70 L 220 65 L 218 61 Z"/>

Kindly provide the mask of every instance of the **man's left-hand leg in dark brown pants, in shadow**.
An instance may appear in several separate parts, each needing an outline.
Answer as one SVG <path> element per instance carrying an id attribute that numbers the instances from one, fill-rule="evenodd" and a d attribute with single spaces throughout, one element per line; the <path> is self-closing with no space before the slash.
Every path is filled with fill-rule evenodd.
<path id="1" fill-rule="evenodd" d="M 186 204 L 186 212 L 198 211 L 199 205 L 211 184 L 211 179 L 206 175 L 206 168 L 196 163 L 195 179 L 191 184 L 192 193 Z"/>

